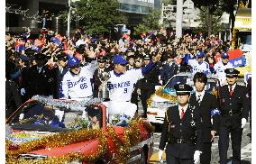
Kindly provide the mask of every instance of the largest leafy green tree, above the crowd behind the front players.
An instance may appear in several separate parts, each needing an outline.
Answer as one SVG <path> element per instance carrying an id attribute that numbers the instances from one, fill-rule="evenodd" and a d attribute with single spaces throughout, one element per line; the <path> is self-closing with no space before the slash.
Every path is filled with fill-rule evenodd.
<path id="1" fill-rule="evenodd" d="M 109 32 L 118 23 L 126 23 L 126 18 L 117 11 L 117 0 L 80 0 L 75 2 L 76 15 L 80 17 L 79 28 L 88 34 Z M 61 18 L 67 18 L 67 12 Z M 74 19 L 74 16 L 72 16 Z"/>

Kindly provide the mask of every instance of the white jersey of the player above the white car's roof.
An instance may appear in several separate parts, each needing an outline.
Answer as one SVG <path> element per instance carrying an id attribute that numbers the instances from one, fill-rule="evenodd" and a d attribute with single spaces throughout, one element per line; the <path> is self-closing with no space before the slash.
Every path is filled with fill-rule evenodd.
<path id="1" fill-rule="evenodd" d="M 199 64 L 197 59 L 188 59 L 187 64 L 191 66 L 190 71 L 193 75 L 195 75 L 197 72 L 204 72 L 206 75 L 210 73 L 210 67 L 206 61 Z"/>

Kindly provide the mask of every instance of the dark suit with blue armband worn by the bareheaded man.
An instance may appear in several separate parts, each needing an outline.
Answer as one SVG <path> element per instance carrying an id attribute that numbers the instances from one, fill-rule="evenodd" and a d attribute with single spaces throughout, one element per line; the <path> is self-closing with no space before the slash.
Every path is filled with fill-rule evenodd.
<path id="1" fill-rule="evenodd" d="M 195 114 L 200 118 L 202 122 L 202 154 L 200 156 L 200 162 L 202 164 L 210 163 L 211 161 L 211 147 L 212 147 L 212 135 L 211 131 L 217 132 L 219 115 L 214 113 L 218 111 L 218 103 L 215 96 L 206 93 L 201 98 L 201 101 L 197 101 L 196 93 L 192 94 L 189 103 L 195 108 Z M 211 113 L 213 114 L 213 124 L 211 123 Z"/>

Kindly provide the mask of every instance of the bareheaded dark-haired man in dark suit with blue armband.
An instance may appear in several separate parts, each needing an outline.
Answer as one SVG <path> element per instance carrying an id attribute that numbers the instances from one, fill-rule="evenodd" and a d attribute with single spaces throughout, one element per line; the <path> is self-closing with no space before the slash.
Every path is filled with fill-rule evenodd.
<path id="1" fill-rule="evenodd" d="M 189 99 L 191 106 L 202 122 L 202 154 L 200 162 L 202 164 L 210 164 L 212 141 L 218 128 L 219 110 L 217 98 L 210 93 L 206 93 L 205 87 L 207 83 L 206 74 L 197 72 L 193 77 L 196 93 L 193 93 Z M 211 119 L 213 118 L 213 123 Z"/>

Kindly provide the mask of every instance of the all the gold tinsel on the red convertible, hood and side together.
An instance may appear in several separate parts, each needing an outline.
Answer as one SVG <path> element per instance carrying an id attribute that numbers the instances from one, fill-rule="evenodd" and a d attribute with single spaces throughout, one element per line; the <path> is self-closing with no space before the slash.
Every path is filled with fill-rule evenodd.
<path id="1" fill-rule="evenodd" d="M 129 123 L 128 127 L 124 128 L 123 141 L 119 139 L 119 136 L 114 131 L 113 126 L 107 127 L 108 136 L 114 142 L 116 155 L 116 163 L 125 163 L 129 159 L 130 148 L 141 141 L 141 131 L 139 123 L 142 123 L 143 127 L 148 132 L 151 132 L 151 127 L 148 123 L 145 123 L 142 119 L 134 119 Z M 18 158 L 22 153 L 28 153 L 32 150 L 56 148 L 72 143 L 78 143 L 80 141 L 87 141 L 91 139 L 99 139 L 98 150 L 91 155 L 83 155 L 81 153 L 69 153 L 65 156 L 50 157 L 48 159 L 20 159 Z M 59 132 L 54 135 L 43 137 L 39 140 L 28 141 L 18 147 L 14 147 L 11 141 L 5 141 L 6 163 L 10 164 L 59 164 L 69 163 L 71 161 L 90 161 L 93 162 L 96 159 L 100 159 L 104 156 L 107 149 L 107 140 L 105 132 L 102 130 L 90 130 L 83 129 L 72 132 Z M 13 150 L 9 148 L 13 147 Z M 112 151 L 112 152 L 113 152 Z"/>

